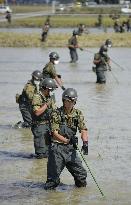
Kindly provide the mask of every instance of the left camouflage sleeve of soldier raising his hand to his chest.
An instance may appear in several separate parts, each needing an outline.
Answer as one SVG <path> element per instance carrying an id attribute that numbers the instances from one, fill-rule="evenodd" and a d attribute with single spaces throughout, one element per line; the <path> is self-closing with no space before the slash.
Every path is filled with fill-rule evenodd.
<path id="1" fill-rule="evenodd" d="M 38 110 L 42 105 L 43 105 L 43 102 L 42 102 L 42 99 L 41 99 L 40 95 L 35 94 L 35 95 L 33 96 L 33 99 L 32 99 L 32 108 L 33 108 L 33 111 L 35 112 L 35 111 Z"/>

